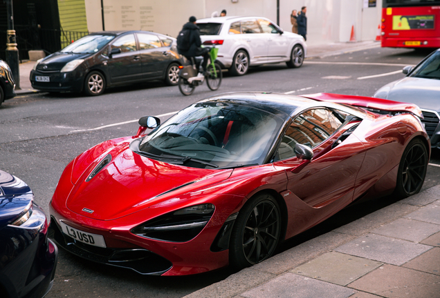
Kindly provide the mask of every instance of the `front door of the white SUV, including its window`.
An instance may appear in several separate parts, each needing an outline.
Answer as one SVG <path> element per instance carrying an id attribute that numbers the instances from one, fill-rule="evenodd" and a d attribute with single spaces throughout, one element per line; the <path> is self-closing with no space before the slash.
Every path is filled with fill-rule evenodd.
<path id="1" fill-rule="evenodd" d="M 264 39 L 268 45 L 268 62 L 286 61 L 288 57 L 289 41 L 285 34 L 279 34 L 279 29 L 266 19 L 259 19 Z"/>

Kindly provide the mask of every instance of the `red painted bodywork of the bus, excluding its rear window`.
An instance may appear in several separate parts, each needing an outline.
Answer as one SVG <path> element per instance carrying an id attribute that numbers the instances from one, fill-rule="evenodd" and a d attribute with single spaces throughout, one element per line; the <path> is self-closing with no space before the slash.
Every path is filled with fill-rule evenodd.
<path id="1" fill-rule="evenodd" d="M 414 16 L 434 15 L 434 29 L 392 30 L 393 15 Z M 392 8 L 392 14 L 387 15 L 387 8 L 382 9 L 381 46 L 392 48 L 440 48 L 440 7 L 418 6 Z M 420 46 L 405 45 L 405 41 L 420 41 Z M 424 45 L 423 41 L 428 41 Z"/>

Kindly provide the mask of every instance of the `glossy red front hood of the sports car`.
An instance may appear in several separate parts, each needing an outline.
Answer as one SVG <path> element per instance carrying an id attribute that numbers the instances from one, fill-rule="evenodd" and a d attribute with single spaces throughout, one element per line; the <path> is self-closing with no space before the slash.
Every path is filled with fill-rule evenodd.
<path id="1" fill-rule="evenodd" d="M 89 168 L 73 186 L 66 201 L 69 210 L 93 219 L 117 219 L 169 199 L 178 190 L 185 193 L 223 181 L 232 172 L 155 161 L 134 153 L 128 146 L 110 154 L 111 161 L 95 177 L 86 181 L 93 172 Z"/>

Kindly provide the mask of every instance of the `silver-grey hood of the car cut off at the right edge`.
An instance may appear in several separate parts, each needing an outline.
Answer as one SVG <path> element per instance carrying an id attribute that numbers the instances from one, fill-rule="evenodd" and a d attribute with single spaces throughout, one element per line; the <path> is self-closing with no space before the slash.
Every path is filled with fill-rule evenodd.
<path id="1" fill-rule="evenodd" d="M 440 111 L 440 80 L 437 79 L 405 77 L 383 86 L 376 95 L 381 93 L 381 97 L 389 100 L 415 103 L 422 109 Z"/>

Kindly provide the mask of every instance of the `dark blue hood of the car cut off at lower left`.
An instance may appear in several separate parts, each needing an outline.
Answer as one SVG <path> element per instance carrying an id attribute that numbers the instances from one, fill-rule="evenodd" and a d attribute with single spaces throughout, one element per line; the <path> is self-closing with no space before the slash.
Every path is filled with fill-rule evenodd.
<path id="1" fill-rule="evenodd" d="M 24 181 L 0 170 L 0 229 L 17 219 L 32 200 Z"/>

